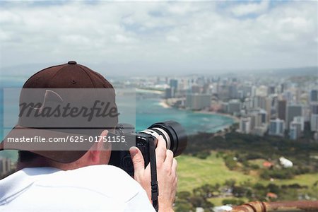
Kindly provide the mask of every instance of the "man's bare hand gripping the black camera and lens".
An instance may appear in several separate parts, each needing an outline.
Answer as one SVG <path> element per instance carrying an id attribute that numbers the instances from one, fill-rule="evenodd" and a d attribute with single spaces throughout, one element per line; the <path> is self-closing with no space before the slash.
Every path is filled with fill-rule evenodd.
<path id="1" fill-rule="evenodd" d="M 150 163 L 145 169 L 143 155 L 139 148 L 130 148 L 131 159 L 134 164 L 134 178 L 146 190 L 151 201 L 151 167 Z M 177 160 L 173 153 L 167 150 L 163 136 L 159 136 L 157 148 L 155 148 L 155 160 L 157 160 L 158 178 L 158 204 L 159 211 L 172 211 L 172 204 L 175 201 L 177 190 Z"/>

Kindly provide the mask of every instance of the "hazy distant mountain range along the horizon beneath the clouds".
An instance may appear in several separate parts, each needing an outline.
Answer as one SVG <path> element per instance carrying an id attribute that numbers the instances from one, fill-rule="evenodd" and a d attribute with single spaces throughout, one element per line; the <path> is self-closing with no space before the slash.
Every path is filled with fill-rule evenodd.
<path id="1" fill-rule="evenodd" d="M 66 61 L 64 61 L 66 62 Z M 6 66 L 0 68 L 0 76 L 17 76 L 18 78 L 28 78 L 36 71 L 45 69 L 46 67 L 63 64 L 64 62 L 52 63 L 39 63 L 39 64 L 21 64 L 16 66 Z M 318 75 L 318 66 L 304 66 L 297 68 L 284 68 L 284 69 L 240 69 L 240 70 L 189 70 L 180 69 L 175 66 L 160 66 L 147 63 L 123 63 L 123 64 L 84 64 L 91 69 L 102 73 L 106 78 L 113 77 L 129 77 L 129 76 L 192 76 L 192 75 L 205 75 L 205 76 L 244 76 L 245 74 L 255 74 L 258 76 L 304 76 L 304 75 Z"/>

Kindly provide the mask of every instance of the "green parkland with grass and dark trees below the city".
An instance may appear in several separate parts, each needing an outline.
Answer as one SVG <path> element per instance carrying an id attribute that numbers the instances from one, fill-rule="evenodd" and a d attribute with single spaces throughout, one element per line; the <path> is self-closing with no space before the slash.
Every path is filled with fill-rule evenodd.
<path id="1" fill-rule="evenodd" d="M 213 151 L 212 151 L 213 150 Z M 177 158 L 176 211 L 247 201 L 318 199 L 317 143 L 229 133 L 189 137 Z M 281 156 L 293 161 L 284 168 Z M 264 162 L 271 164 L 264 167 Z M 198 192 L 199 191 L 199 192 Z M 184 209 L 184 210 L 183 210 Z"/>

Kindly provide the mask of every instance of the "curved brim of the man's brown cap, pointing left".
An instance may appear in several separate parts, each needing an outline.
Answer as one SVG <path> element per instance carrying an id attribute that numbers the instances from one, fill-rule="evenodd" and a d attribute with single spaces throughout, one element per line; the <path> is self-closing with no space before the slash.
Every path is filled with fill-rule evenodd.
<path id="1" fill-rule="evenodd" d="M 91 142 L 81 143 L 10 143 L 8 138 L 23 138 L 23 137 L 42 137 L 42 138 L 66 138 L 66 136 L 83 136 L 83 134 L 68 134 L 61 131 L 48 129 L 34 129 L 25 126 L 16 125 L 11 129 L 5 139 L 0 143 L 0 151 L 17 150 L 30 151 L 37 155 L 41 155 L 58 163 L 72 163 L 81 158 L 93 145 Z M 37 145 L 37 146 L 36 146 Z M 45 145 L 45 146 L 43 146 Z M 61 146 L 57 146 L 61 145 Z M 75 146 L 76 145 L 76 146 Z M 44 147 L 44 148 L 43 148 Z M 75 148 L 74 148 L 75 147 Z M 67 150 L 66 150 L 67 149 Z"/>

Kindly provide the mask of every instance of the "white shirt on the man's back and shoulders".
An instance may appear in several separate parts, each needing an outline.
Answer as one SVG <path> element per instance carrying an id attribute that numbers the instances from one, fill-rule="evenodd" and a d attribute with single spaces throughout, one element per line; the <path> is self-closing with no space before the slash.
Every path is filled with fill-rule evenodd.
<path id="1" fill-rule="evenodd" d="M 124 170 L 91 165 L 24 168 L 0 180 L 0 211 L 154 211 Z"/>

